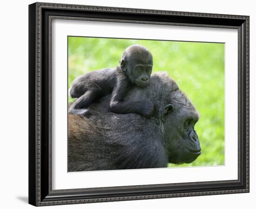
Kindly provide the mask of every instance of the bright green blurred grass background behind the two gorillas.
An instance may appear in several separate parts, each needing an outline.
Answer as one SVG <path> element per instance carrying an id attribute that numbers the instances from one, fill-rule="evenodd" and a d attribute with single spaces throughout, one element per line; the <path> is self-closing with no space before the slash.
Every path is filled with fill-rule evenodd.
<path id="1" fill-rule="evenodd" d="M 149 49 L 152 73 L 167 71 L 201 115 L 195 130 L 202 154 L 193 163 L 169 167 L 223 165 L 224 44 L 68 37 L 68 88 L 81 74 L 119 65 L 123 51 L 133 44 Z"/>

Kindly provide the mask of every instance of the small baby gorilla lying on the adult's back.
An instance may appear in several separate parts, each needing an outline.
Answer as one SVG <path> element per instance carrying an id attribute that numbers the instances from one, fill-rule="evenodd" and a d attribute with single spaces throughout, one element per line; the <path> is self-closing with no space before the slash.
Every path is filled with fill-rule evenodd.
<path id="1" fill-rule="evenodd" d="M 69 89 L 69 96 L 78 98 L 69 113 L 90 115 L 88 106 L 98 98 L 111 95 L 110 111 L 115 113 L 137 113 L 149 117 L 154 104 L 149 101 L 123 101 L 128 88 L 133 85 L 145 87 L 152 72 L 152 54 L 141 45 L 129 46 L 123 53 L 120 66 L 88 72 L 76 78 Z"/>

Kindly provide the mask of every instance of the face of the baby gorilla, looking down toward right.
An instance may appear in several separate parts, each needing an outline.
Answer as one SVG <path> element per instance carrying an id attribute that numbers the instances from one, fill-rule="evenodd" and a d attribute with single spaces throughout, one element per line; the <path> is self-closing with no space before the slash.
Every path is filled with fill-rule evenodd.
<path id="1" fill-rule="evenodd" d="M 135 78 L 135 85 L 145 87 L 149 83 L 150 74 L 152 72 L 151 63 L 139 63 L 133 67 L 133 75 Z"/>

